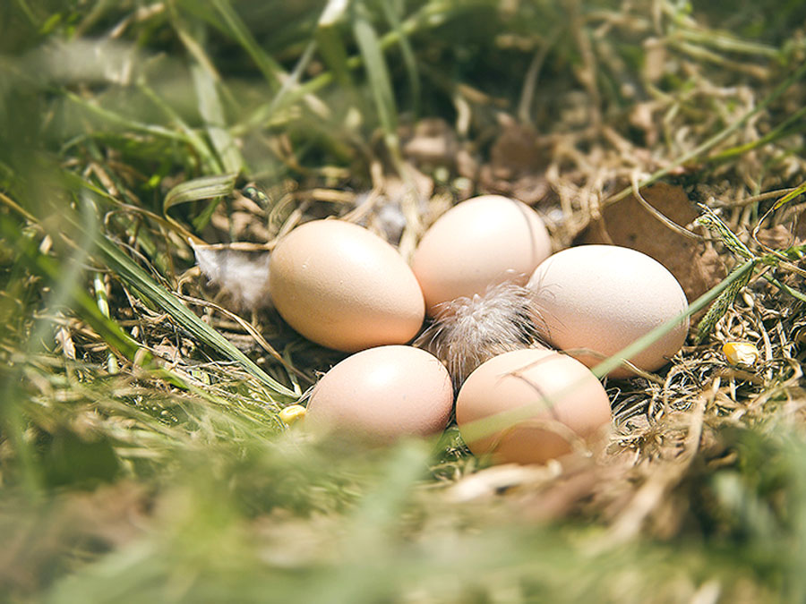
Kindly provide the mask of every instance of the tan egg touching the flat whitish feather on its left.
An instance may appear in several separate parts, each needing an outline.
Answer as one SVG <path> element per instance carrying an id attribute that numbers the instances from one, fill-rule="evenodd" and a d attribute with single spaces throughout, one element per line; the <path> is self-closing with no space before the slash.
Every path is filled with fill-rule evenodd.
<path id="1" fill-rule="evenodd" d="M 314 220 L 271 254 L 269 289 L 287 323 L 346 353 L 405 344 L 423 324 L 423 293 L 389 243 L 341 220 Z"/>

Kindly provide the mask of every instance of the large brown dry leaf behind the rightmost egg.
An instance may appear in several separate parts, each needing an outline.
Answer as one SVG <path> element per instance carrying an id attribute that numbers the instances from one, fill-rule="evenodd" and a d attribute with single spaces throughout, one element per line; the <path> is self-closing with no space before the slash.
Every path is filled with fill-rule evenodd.
<path id="1" fill-rule="evenodd" d="M 688 225 L 698 216 L 685 191 L 678 186 L 656 183 L 641 190 L 641 195 L 678 225 Z M 689 301 L 697 299 L 727 275 L 722 259 L 712 246 L 673 231 L 632 195 L 603 208 L 601 217 L 592 220 L 575 243 L 612 243 L 642 251 L 672 272 Z"/>

